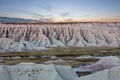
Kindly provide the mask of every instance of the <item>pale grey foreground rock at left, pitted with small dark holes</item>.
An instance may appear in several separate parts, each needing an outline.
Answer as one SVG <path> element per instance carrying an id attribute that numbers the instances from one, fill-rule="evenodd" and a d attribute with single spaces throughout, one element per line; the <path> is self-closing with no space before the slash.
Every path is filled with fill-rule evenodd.
<path id="1" fill-rule="evenodd" d="M 70 66 L 34 63 L 0 65 L 0 80 L 74 80 L 76 77 Z"/>

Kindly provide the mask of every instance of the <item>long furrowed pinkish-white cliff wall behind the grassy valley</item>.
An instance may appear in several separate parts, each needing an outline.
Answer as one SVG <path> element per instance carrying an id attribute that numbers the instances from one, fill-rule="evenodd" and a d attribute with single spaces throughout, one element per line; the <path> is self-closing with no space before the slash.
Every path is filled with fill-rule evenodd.
<path id="1" fill-rule="evenodd" d="M 0 48 L 120 46 L 120 23 L 0 24 Z M 7 46 L 7 48 L 6 48 Z M 8 48 L 9 49 L 9 48 Z"/>

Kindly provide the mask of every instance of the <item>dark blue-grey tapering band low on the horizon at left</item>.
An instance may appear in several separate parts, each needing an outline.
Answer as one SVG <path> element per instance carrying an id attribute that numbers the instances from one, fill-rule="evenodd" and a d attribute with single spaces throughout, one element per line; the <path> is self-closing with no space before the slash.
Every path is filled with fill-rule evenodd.
<path id="1" fill-rule="evenodd" d="M 11 18 L 11 17 L 0 17 L 1 23 L 28 23 L 28 22 L 38 22 L 32 19 L 22 19 L 22 18 Z"/>

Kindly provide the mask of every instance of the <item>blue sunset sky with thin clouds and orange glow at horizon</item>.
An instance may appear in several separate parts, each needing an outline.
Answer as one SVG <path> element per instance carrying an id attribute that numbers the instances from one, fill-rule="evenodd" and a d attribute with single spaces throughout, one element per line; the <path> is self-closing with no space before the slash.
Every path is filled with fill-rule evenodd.
<path id="1" fill-rule="evenodd" d="M 47 22 L 120 22 L 120 0 L 0 0 L 0 16 Z"/>

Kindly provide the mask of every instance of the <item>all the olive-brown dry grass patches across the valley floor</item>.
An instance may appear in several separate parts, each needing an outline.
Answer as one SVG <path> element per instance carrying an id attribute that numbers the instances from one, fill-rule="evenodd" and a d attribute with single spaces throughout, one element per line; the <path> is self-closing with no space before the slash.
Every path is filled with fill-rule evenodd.
<path id="1" fill-rule="evenodd" d="M 28 52 L 6 52 L 0 53 L 0 57 L 6 58 L 0 61 L 0 64 L 14 65 L 20 62 L 34 62 L 43 63 L 47 60 L 51 60 L 50 56 L 57 56 L 65 61 L 73 60 L 73 62 L 61 63 L 61 65 L 71 65 L 73 67 L 78 65 L 84 65 L 86 63 L 94 63 L 98 61 L 95 58 L 87 59 L 75 59 L 75 57 L 80 55 L 92 55 L 92 56 L 108 56 L 108 55 L 120 55 L 120 48 L 112 47 L 57 47 L 52 48 L 47 51 L 28 51 Z M 35 59 L 30 59 L 29 56 L 36 57 Z M 49 56 L 42 58 L 42 56 Z M 9 57 L 9 58 L 8 58 Z M 12 57 L 21 57 L 21 59 L 13 59 Z M 56 63 L 58 64 L 58 63 Z"/>

